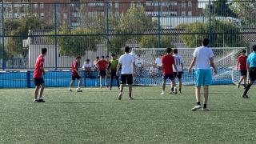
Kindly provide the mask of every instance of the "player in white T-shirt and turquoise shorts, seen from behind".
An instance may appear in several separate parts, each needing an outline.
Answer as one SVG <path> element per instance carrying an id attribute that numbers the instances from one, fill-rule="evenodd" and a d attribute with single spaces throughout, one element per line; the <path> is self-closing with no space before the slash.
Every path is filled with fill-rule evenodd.
<path id="1" fill-rule="evenodd" d="M 200 106 L 200 90 L 201 86 L 204 88 L 204 105 L 202 110 L 210 110 L 207 108 L 207 101 L 209 95 L 209 86 L 211 85 L 212 81 L 212 74 L 210 70 L 210 66 L 214 68 L 214 74 L 217 74 L 217 69 L 214 64 L 214 53 L 213 51 L 207 47 L 209 45 L 209 39 L 204 38 L 202 41 L 202 46 L 198 47 L 194 50 L 193 59 L 189 67 L 189 74 L 192 70 L 192 67 L 195 64 L 195 92 L 197 98 L 197 106 L 194 106 L 191 110 L 199 110 Z M 210 63 L 210 64 L 209 64 Z"/>

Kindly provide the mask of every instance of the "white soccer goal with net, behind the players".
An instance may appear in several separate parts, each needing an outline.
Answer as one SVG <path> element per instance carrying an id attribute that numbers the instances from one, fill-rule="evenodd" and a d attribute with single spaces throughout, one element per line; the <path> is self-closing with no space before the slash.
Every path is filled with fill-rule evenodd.
<path id="1" fill-rule="evenodd" d="M 240 73 L 236 70 L 238 56 L 246 47 L 214 47 L 214 62 L 218 67 L 218 74 L 213 76 L 213 84 L 227 85 L 238 82 Z M 194 84 L 194 72 L 187 73 L 187 68 L 192 61 L 194 48 L 178 48 L 178 54 L 182 56 L 184 70 L 182 82 L 184 85 Z M 166 54 L 166 49 L 158 48 L 134 48 L 131 52 L 136 60 L 142 62 L 142 67 L 134 70 L 134 84 L 142 86 L 161 85 L 162 68 L 157 66 L 157 55 Z M 170 81 L 168 82 L 170 84 Z"/>

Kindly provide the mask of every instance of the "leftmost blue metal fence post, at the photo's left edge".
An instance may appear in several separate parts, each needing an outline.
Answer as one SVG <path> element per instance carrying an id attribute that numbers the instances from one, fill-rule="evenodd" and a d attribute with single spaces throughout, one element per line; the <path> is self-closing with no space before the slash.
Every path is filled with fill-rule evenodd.
<path id="1" fill-rule="evenodd" d="M 4 4 L 2 1 L 2 70 L 6 69 L 6 51 L 5 51 L 5 17 L 4 17 Z"/>

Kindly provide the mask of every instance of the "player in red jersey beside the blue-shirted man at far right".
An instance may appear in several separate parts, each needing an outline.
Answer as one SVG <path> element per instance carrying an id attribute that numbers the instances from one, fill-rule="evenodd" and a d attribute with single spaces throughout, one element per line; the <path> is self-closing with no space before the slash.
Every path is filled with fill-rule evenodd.
<path id="1" fill-rule="evenodd" d="M 237 62 L 237 70 L 239 65 L 240 73 L 241 73 L 241 78 L 240 78 L 240 81 L 238 82 L 238 89 L 240 88 L 242 81 L 243 81 L 243 87 L 244 89 L 246 89 L 246 77 L 247 77 L 246 61 L 247 61 L 246 50 L 242 50 L 242 54 L 240 55 L 240 57 L 238 57 L 238 62 Z"/>

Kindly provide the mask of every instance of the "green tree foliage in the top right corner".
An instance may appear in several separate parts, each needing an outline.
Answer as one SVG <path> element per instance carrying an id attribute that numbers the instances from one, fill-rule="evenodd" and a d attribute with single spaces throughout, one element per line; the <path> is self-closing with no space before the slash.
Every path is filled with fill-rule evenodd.
<path id="1" fill-rule="evenodd" d="M 256 26 L 256 2 L 255 1 L 234 1 L 230 2 L 230 9 L 242 19 L 246 26 Z"/>

